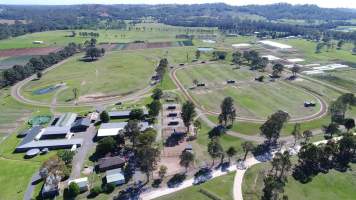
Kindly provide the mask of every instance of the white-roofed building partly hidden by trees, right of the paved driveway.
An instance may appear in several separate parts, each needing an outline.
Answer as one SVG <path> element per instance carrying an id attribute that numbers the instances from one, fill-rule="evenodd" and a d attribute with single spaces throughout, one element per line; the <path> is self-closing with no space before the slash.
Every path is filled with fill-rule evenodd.
<path id="1" fill-rule="evenodd" d="M 115 136 L 120 133 L 120 131 L 124 130 L 127 122 L 114 122 L 114 123 L 103 123 L 101 124 L 98 130 L 98 137 L 107 137 L 107 136 Z M 144 131 L 151 126 L 148 122 L 140 122 L 141 131 Z"/>

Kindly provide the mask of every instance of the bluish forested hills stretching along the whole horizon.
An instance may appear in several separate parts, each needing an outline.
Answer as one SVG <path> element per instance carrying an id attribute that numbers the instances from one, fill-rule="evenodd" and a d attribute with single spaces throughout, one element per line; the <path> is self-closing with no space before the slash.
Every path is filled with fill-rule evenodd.
<path id="1" fill-rule="evenodd" d="M 137 19 L 153 16 L 158 19 L 182 17 L 222 17 L 254 14 L 275 19 L 302 20 L 349 20 L 356 19 L 355 10 L 320 8 L 315 5 L 272 5 L 230 6 L 227 4 L 195 5 L 73 5 L 73 6 L 10 6 L 0 5 L 0 19 L 34 19 L 64 15 L 88 17 L 115 17 Z"/>

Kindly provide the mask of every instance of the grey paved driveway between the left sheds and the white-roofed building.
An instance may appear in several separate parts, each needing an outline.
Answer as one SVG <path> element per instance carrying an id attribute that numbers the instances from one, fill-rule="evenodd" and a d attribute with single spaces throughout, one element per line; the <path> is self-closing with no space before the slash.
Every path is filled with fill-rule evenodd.
<path id="1" fill-rule="evenodd" d="M 72 162 L 72 172 L 70 175 L 71 179 L 80 178 L 82 167 L 85 162 L 85 158 L 90 149 L 95 148 L 96 143 L 93 142 L 93 138 L 96 134 L 96 129 L 93 125 L 91 125 L 85 133 L 82 134 L 83 138 L 83 146 L 78 148 L 78 152 L 75 154 Z"/>

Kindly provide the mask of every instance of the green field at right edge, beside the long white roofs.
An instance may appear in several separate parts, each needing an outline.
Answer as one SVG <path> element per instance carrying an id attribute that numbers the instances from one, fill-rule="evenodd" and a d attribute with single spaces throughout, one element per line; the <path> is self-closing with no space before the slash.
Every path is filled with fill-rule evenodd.
<path id="1" fill-rule="evenodd" d="M 356 56 L 351 54 L 352 45 L 347 43 L 341 50 L 330 50 L 327 52 L 325 49 L 321 53 L 315 53 L 317 43 L 307 41 L 304 39 L 285 39 L 277 40 L 277 42 L 288 44 L 298 49 L 307 62 L 317 63 L 339 63 L 339 62 L 356 62 Z"/>

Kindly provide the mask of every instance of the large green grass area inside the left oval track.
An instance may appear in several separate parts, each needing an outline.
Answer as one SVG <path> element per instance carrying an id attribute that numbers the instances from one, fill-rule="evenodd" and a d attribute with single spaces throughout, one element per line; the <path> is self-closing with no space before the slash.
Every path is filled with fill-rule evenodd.
<path id="1" fill-rule="evenodd" d="M 83 96 L 87 95 L 127 95 L 147 87 L 150 82 L 157 60 L 146 56 L 147 52 L 111 52 L 95 62 L 83 62 L 79 60 L 81 55 L 74 56 L 40 80 L 28 83 L 22 93 L 29 99 L 50 102 L 56 92 L 43 95 L 33 92 L 65 83 L 67 89 L 57 90 L 57 102 L 71 101 L 73 88 L 79 90 L 79 101 L 86 100 Z"/>

